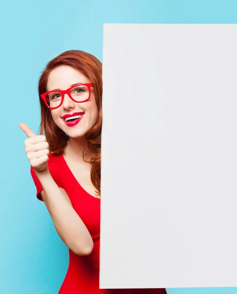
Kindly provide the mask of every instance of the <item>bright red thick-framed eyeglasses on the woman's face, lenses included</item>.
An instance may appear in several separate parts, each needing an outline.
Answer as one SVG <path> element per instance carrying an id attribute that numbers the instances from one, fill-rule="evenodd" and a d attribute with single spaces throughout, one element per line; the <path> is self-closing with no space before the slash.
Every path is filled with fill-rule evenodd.
<path id="1" fill-rule="evenodd" d="M 50 109 L 62 105 L 64 95 L 67 94 L 74 102 L 81 103 L 90 99 L 92 83 L 85 83 L 73 86 L 67 90 L 54 90 L 43 93 L 40 97 Z"/>

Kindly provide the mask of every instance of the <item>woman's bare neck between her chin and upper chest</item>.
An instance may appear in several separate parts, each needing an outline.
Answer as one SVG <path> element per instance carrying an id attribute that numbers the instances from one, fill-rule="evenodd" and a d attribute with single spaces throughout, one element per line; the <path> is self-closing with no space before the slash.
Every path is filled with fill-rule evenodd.
<path id="1" fill-rule="evenodd" d="M 64 148 L 64 154 L 71 159 L 83 160 L 83 150 L 88 147 L 88 141 L 85 137 L 81 138 L 69 138 L 66 147 Z M 88 148 L 84 151 L 84 159 L 90 160 L 92 153 Z"/>

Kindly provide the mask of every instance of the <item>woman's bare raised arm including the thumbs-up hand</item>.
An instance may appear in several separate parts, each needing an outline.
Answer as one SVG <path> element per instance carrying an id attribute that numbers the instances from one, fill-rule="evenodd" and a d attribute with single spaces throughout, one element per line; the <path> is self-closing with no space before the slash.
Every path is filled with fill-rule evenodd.
<path id="1" fill-rule="evenodd" d="M 46 137 L 37 136 L 25 123 L 20 123 L 19 126 L 28 136 L 25 140 L 26 155 L 43 187 L 41 196 L 58 235 L 74 253 L 89 255 L 93 249 L 93 240 L 67 193 L 53 180 L 48 168 L 49 143 Z"/>

